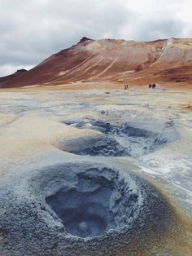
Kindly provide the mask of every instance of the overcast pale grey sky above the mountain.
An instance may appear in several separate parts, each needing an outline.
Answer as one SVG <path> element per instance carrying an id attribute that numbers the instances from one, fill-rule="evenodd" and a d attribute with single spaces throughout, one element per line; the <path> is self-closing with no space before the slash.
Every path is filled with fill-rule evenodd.
<path id="1" fill-rule="evenodd" d="M 0 0 L 0 77 L 83 36 L 192 38 L 191 0 Z"/>

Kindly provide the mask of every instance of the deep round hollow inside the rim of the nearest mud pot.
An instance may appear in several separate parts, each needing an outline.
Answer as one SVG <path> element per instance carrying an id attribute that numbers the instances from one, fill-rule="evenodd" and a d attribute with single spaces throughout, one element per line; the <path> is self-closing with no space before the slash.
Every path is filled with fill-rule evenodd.
<path id="1" fill-rule="evenodd" d="M 142 194 L 134 180 L 126 183 L 120 174 L 90 169 L 76 174 L 70 183 L 46 203 L 74 236 L 101 236 L 109 230 L 120 230 L 135 218 L 142 205 Z"/>

